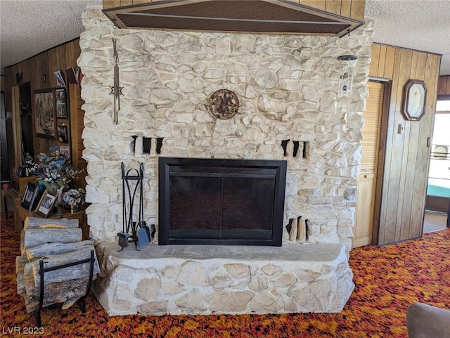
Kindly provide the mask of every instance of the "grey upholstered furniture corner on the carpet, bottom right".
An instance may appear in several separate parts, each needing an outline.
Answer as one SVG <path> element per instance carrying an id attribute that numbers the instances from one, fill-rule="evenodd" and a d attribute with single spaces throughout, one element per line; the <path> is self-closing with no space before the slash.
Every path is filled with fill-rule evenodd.
<path id="1" fill-rule="evenodd" d="M 423 303 L 406 311 L 409 338 L 450 338 L 450 311 Z"/>

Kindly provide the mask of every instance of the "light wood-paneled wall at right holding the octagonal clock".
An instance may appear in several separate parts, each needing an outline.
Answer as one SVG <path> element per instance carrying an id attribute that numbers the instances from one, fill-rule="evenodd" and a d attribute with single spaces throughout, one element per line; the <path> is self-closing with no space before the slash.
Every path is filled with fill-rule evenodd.
<path id="1" fill-rule="evenodd" d="M 441 56 L 433 53 L 372 45 L 369 75 L 388 79 L 391 90 L 380 140 L 374 244 L 422 234 L 430 164 L 428 138 L 432 136 L 440 62 Z M 425 115 L 420 121 L 406 121 L 401 112 L 409 79 L 423 80 L 427 88 Z M 399 125 L 404 125 L 404 134 L 399 134 Z"/>

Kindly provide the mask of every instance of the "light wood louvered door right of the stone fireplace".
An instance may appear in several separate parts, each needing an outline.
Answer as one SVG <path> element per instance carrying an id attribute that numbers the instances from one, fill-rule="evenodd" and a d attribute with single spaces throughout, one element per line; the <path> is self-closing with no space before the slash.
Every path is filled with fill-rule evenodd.
<path id="1" fill-rule="evenodd" d="M 359 172 L 358 206 L 356 207 L 352 247 L 372 242 L 373 212 L 375 206 L 376 168 L 380 138 L 380 117 L 383 108 L 383 84 L 368 82 L 369 96 L 364 112 L 361 171 Z"/>

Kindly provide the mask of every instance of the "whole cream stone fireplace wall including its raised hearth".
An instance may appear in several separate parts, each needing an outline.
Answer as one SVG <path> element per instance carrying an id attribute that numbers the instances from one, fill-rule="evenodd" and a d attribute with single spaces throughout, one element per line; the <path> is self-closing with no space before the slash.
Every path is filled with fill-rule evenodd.
<path id="1" fill-rule="evenodd" d="M 341 311 L 354 287 L 348 251 L 371 22 L 337 38 L 119 30 L 101 8 L 87 8 L 82 20 L 86 214 L 102 263 L 95 292 L 106 311 Z M 113 38 L 124 94 L 117 124 Z M 348 53 L 359 57 L 353 93 L 340 98 L 337 57 Z M 209 111 L 219 89 L 239 97 L 231 119 Z M 285 161 L 281 247 L 158 245 L 160 157 Z M 140 251 L 118 252 L 121 162 L 144 164 L 144 216 L 156 231 Z"/>

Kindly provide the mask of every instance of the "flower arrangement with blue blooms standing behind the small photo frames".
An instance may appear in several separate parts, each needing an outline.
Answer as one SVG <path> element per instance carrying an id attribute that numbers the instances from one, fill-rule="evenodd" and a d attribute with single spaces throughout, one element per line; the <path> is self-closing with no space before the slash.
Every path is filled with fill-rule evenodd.
<path id="1" fill-rule="evenodd" d="M 25 165 L 32 174 L 37 176 L 39 190 L 46 189 L 53 194 L 62 193 L 63 189 L 68 188 L 72 179 L 82 171 L 72 167 L 68 156 L 61 154 L 58 146 L 53 145 L 49 150 L 50 155 L 41 152 L 37 155 L 37 163 L 29 159 L 25 161 Z"/>

